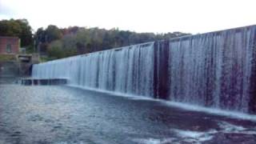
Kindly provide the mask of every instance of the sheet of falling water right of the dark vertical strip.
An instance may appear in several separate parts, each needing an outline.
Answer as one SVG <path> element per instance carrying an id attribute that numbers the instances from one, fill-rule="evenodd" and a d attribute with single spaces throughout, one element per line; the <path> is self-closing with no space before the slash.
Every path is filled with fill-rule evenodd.
<path id="1" fill-rule="evenodd" d="M 170 41 L 170 99 L 247 112 L 255 26 Z"/>

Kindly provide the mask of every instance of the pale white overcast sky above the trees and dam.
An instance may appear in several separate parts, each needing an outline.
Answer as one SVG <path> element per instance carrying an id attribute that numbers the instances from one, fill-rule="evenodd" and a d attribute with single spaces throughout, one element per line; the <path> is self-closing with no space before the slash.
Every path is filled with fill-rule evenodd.
<path id="1" fill-rule="evenodd" d="M 0 0 L 0 20 L 198 34 L 256 24 L 256 0 Z"/>

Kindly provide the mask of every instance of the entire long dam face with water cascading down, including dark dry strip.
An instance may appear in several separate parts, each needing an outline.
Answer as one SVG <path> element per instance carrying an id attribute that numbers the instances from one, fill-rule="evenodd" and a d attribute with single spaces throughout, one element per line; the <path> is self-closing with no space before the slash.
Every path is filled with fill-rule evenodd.
<path id="1" fill-rule="evenodd" d="M 33 66 L 34 78 L 256 112 L 256 26 L 148 42 Z"/>

